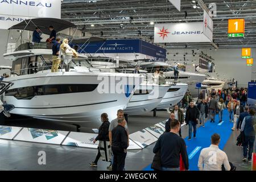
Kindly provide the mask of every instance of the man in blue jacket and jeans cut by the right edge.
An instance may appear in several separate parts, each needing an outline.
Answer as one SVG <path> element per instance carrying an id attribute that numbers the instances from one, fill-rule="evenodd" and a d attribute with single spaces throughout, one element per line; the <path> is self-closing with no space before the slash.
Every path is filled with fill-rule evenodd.
<path id="1" fill-rule="evenodd" d="M 256 111 L 254 109 L 250 109 L 249 116 L 243 118 L 241 131 L 245 134 L 245 141 L 243 142 L 243 161 L 246 161 L 247 158 L 247 148 L 249 146 L 248 152 L 248 162 L 251 162 L 251 154 L 253 153 L 253 146 L 255 141 L 255 118 Z"/>

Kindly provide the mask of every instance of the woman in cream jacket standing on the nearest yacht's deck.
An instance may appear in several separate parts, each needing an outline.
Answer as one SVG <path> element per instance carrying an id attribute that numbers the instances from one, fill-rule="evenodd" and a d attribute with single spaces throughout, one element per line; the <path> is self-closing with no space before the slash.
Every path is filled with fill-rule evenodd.
<path id="1" fill-rule="evenodd" d="M 71 48 L 68 45 L 68 39 L 64 39 L 62 44 L 60 45 L 59 59 L 61 58 L 61 55 L 63 55 L 65 71 L 69 72 L 72 56 L 77 57 L 77 52 L 75 51 L 75 49 Z"/>

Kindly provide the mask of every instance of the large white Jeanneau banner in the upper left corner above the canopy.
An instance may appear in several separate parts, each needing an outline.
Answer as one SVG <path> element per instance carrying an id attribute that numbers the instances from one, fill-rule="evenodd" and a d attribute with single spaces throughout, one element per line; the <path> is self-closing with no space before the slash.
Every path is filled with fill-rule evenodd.
<path id="1" fill-rule="evenodd" d="M 61 0 L 0 0 L 0 28 L 30 18 L 60 18 Z"/>

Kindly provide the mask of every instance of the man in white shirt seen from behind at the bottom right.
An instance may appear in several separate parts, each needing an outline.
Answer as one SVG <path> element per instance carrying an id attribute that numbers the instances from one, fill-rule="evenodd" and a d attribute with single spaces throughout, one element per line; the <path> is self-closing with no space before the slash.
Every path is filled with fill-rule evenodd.
<path id="1" fill-rule="evenodd" d="M 212 144 L 208 148 L 204 148 L 199 156 L 198 168 L 200 171 L 222 171 L 222 165 L 226 171 L 230 171 L 228 156 L 220 148 L 220 135 L 213 134 L 211 138 Z"/>

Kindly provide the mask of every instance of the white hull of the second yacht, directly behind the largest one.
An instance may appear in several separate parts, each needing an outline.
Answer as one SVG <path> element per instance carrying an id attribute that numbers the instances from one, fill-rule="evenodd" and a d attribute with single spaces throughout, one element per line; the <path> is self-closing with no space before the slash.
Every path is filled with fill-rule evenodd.
<path id="1" fill-rule="evenodd" d="M 125 109 L 128 115 L 141 115 L 155 109 L 162 101 L 170 85 L 142 84 L 139 85 L 140 90 L 154 90 L 155 93 L 150 94 L 134 94 Z M 135 91 L 136 93 L 136 91 Z"/>

